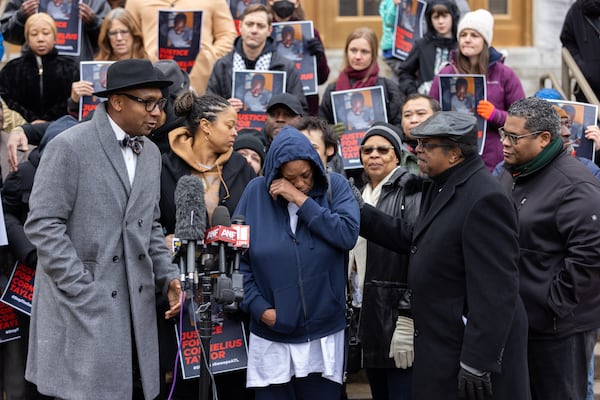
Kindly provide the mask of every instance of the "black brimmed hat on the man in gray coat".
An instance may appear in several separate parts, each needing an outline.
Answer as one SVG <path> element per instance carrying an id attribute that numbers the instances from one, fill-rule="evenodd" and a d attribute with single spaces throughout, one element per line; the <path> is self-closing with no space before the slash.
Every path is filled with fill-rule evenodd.
<path id="1" fill-rule="evenodd" d="M 108 97 L 121 90 L 136 88 L 162 89 L 171 86 L 172 83 L 173 81 L 164 79 L 163 74 L 159 75 L 148 60 L 121 60 L 108 68 L 106 90 L 94 92 L 94 96 Z"/>

